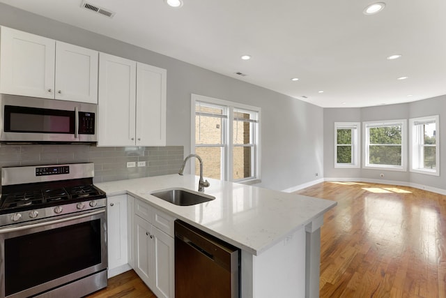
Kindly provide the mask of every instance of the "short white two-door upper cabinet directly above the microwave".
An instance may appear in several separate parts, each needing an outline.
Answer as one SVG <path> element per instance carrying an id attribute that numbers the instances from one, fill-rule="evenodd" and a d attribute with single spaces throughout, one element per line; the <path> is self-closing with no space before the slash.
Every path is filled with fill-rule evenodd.
<path id="1" fill-rule="evenodd" d="M 0 93 L 98 103 L 98 52 L 1 27 Z"/>

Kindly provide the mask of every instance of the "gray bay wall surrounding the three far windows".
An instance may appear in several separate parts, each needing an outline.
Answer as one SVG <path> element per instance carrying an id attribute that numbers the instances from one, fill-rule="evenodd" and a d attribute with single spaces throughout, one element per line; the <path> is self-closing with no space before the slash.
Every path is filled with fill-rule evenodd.
<path id="1" fill-rule="evenodd" d="M 440 115 L 440 177 L 426 174 L 409 172 L 366 170 L 366 169 L 339 169 L 334 168 L 334 122 L 337 121 L 378 121 L 392 119 L 410 119 Z M 325 109 L 324 110 L 324 172 L 326 178 L 364 178 L 381 179 L 387 181 L 401 181 L 413 184 L 421 184 L 433 188 L 446 189 L 445 173 L 446 169 L 446 129 L 442 124 L 446 119 L 446 96 L 438 96 L 413 103 L 403 103 L 399 105 L 380 105 L 376 107 Z M 409 129 L 407 130 L 408 133 Z M 407 135 L 408 137 L 408 135 Z M 361 126 L 361 149 L 364 141 L 363 129 Z M 408 140 L 408 139 L 407 139 Z M 361 150 L 362 156 L 362 150 Z M 362 161 L 364 156 L 362 156 Z M 362 165 L 362 163 L 361 163 Z M 380 173 L 384 177 L 380 177 Z"/>

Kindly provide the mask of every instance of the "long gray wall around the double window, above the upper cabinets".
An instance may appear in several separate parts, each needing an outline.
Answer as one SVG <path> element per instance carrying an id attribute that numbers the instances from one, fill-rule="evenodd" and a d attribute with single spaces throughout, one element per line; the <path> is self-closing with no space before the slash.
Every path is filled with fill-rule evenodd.
<path id="1" fill-rule="evenodd" d="M 167 144 L 184 146 L 184 154 L 190 153 L 190 94 L 194 93 L 262 108 L 259 186 L 282 190 L 323 175 L 321 107 L 3 3 L 0 24 L 166 68 Z"/>

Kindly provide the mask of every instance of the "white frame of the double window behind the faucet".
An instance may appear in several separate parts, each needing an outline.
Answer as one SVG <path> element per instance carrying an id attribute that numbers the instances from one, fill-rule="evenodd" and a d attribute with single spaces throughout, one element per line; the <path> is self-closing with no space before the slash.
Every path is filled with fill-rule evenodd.
<path id="1" fill-rule="evenodd" d="M 222 139 L 222 143 L 224 144 L 222 154 L 222 174 L 221 179 L 225 181 L 236 181 L 239 183 L 255 183 L 256 181 L 260 181 L 261 179 L 261 107 L 254 107 L 252 105 L 245 105 L 242 103 L 235 103 L 229 100 L 222 100 L 218 98 L 212 98 L 208 96 L 201 96 L 198 94 L 191 94 L 191 152 L 195 153 L 195 148 L 197 144 L 195 143 L 195 105 L 197 101 L 202 103 L 208 103 L 210 105 L 218 105 L 221 107 L 226 107 L 227 109 L 227 119 L 226 119 L 226 127 L 222 128 L 226 131 L 224 140 Z M 233 112 L 234 110 L 244 110 L 249 112 L 255 112 L 257 114 L 256 119 L 256 129 L 254 129 L 253 137 L 254 137 L 254 154 L 251 156 L 252 163 L 252 177 L 247 177 L 244 179 L 233 179 L 233 148 L 238 147 L 233 144 Z M 198 146 L 205 147 L 205 146 Z M 191 174 L 195 172 L 195 163 L 191 163 Z M 203 173 L 206 176 L 206 173 Z"/>

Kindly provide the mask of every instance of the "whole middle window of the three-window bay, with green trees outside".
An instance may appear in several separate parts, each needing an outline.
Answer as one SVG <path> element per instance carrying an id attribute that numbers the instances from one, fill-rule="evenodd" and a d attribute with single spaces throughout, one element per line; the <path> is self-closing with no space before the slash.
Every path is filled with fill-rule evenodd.
<path id="1" fill-rule="evenodd" d="M 364 122 L 364 167 L 406 171 L 406 120 Z"/>

